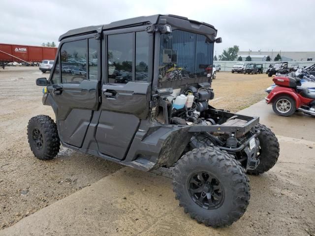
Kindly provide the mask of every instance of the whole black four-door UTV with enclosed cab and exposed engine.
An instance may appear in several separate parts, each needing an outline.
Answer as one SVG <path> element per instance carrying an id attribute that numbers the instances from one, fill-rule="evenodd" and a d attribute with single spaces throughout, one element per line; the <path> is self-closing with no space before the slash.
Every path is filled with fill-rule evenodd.
<path id="1" fill-rule="evenodd" d="M 52 159 L 62 144 L 142 171 L 175 167 L 185 212 L 207 226 L 231 225 L 249 204 L 246 173 L 272 168 L 279 143 L 259 118 L 209 105 L 216 36 L 214 26 L 175 15 L 61 35 L 49 79 L 36 80 L 56 122 L 30 119 L 32 152 Z M 86 73 L 61 71 L 69 60 L 86 61 Z"/>

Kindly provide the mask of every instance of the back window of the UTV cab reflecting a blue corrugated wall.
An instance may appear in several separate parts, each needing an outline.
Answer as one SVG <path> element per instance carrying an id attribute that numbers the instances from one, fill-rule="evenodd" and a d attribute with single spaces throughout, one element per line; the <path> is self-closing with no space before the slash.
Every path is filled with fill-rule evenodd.
<path id="1" fill-rule="evenodd" d="M 173 30 L 160 39 L 158 81 L 209 77 L 212 72 L 213 42 L 206 36 Z"/>

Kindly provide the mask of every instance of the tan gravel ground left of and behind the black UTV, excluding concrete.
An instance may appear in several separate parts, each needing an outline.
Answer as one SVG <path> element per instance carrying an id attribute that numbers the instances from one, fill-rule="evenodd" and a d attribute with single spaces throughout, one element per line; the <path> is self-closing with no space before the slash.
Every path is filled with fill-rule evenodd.
<path id="1" fill-rule="evenodd" d="M 0 229 L 110 175 L 121 165 L 62 148 L 51 161 L 37 160 L 28 145 L 28 120 L 39 114 L 55 117 L 41 102 L 35 79 L 48 77 L 38 67 L 0 70 Z M 211 104 L 236 112 L 261 100 L 272 84 L 266 74 L 220 72 L 213 82 Z"/>

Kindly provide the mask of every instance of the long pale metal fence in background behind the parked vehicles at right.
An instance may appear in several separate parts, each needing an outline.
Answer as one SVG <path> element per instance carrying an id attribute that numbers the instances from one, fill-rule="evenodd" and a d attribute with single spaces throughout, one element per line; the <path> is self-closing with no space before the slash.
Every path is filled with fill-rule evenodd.
<path id="1" fill-rule="evenodd" d="M 264 72 L 267 71 L 270 64 L 279 62 L 279 61 L 235 61 L 235 60 L 215 60 L 213 61 L 214 64 L 221 65 L 221 71 L 231 71 L 232 66 L 235 65 L 237 62 L 244 62 L 244 63 L 256 63 L 256 64 L 263 64 Z M 292 64 L 299 64 L 299 68 L 303 66 L 310 66 L 313 65 L 315 61 L 288 61 L 288 66 L 290 67 Z"/>

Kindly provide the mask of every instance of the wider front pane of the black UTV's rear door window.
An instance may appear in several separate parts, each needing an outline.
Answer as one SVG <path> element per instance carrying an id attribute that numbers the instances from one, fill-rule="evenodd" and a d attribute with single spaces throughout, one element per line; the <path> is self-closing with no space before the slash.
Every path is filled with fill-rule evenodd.
<path id="1" fill-rule="evenodd" d="M 108 82 L 132 81 L 133 33 L 108 35 Z"/>

